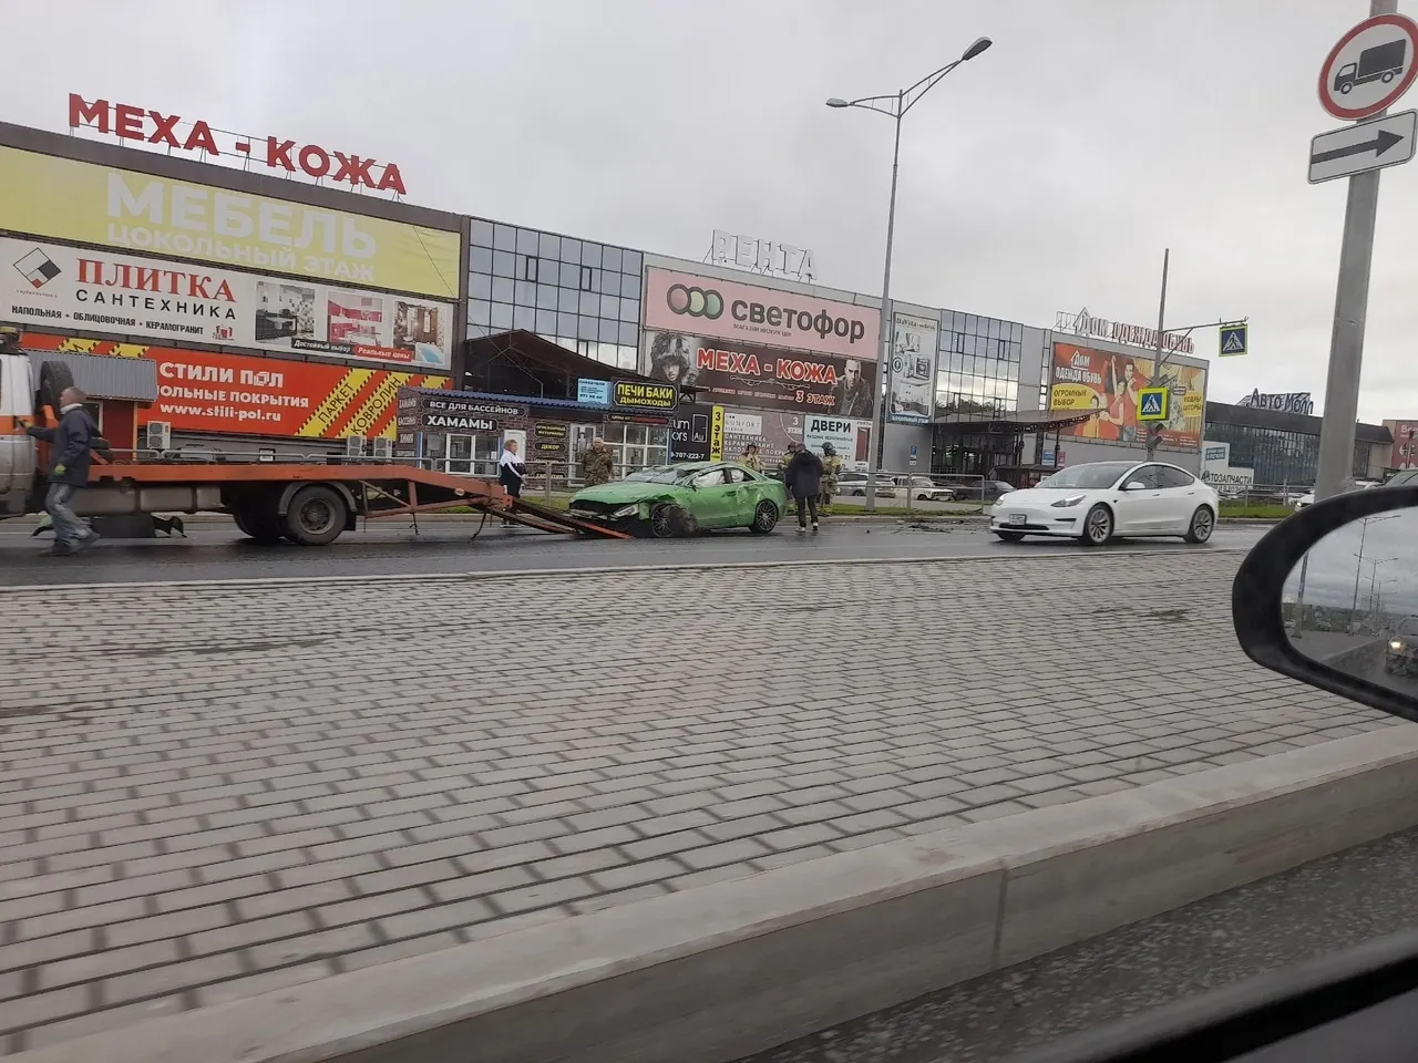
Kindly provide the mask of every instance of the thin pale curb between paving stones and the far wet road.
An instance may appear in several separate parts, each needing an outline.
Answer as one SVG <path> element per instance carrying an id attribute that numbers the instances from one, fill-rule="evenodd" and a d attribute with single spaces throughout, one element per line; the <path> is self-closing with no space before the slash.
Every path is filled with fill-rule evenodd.
<path id="1" fill-rule="evenodd" d="M 1181 550 L 1089 550 L 1083 557 L 1170 557 L 1170 556 L 1188 556 L 1194 557 L 1197 553 L 1195 547 L 1181 549 Z M 1249 549 L 1239 547 L 1211 547 L 1207 550 L 1208 554 L 1245 554 Z M 783 561 L 723 561 L 719 564 L 702 563 L 702 564 L 617 564 L 617 566 L 597 566 L 594 568 L 506 568 L 506 570 L 488 570 L 488 571 L 468 571 L 468 573 L 372 573 L 369 575 L 267 575 L 254 577 L 248 580 L 147 580 L 147 581 L 128 581 L 128 583 L 64 583 L 64 584 L 48 584 L 48 583 L 27 583 L 16 584 L 13 587 L 0 587 L 0 595 L 3 594 L 18 594 L 21 591 L 34 592 L 44 591 L 45 594 L 62 594 L 64 591 L 118 591 L 118 590 L 155 590 L 159 587 L 184 588 L 184 587 L 281 587 L 285 584 L 376 584 L 376 583 L 432 583 L 442 580 L 445 583 L 462 583 L 465 580 L 503 580 L 503 578 L 520 578 L 525 575 L 556 575 L 560 578 L 576 577 L 576 575 L 611 575 L 624 573 L 706 573 L 706 571 L 722 571 L 725 568 L 808 568 L 813 566 L 837 566 L 837 564 L 960 564 L 964 561 L 986 561 L 991 564 L 998 564 L 1001 561 L 1018 561 L 1021 557 L 1025 560 L 1049 560 L 1049 561 L 1068 561 L 1076 560 L 1081 554 L 1004 554 L 1004 556 L 983 556 L 983 557 L 831 557 L 821 560 L 783 560 Z"/>

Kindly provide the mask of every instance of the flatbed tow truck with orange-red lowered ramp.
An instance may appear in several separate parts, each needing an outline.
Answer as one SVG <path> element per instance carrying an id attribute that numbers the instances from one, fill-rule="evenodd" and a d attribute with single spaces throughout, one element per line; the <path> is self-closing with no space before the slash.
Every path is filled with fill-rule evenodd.
<path id="1" fill-rule="evenodd" d="M 48 444 L 24 422 L 54 425 L 60 394 L 74 384 L 69 366 L 44 361 L 35 384 L 28 354 L 0 350 L 0 519 L 44 507 Z M 513 499 L 492 479 L 457 476 L 413 462 L 328 458 L 296 461 L 193 461 L 95 441 L 89 485 L 74 510 L 84 517 L 159 513 L 228 513 L 257 543 L 333 543 L 359 517 L 411 516 L 469 507 L 539 532 L 627 539 L 621 532 Z"/>

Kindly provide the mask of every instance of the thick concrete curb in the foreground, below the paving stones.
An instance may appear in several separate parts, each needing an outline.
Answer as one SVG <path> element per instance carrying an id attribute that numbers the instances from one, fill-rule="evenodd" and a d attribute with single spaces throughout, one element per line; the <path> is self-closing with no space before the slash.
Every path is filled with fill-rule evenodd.
<path id="1" fill-rule="evenodd" d="M 1411 828 L 1415 787 L 1384 729 L 14 1059 L 723 1063 Z"/>

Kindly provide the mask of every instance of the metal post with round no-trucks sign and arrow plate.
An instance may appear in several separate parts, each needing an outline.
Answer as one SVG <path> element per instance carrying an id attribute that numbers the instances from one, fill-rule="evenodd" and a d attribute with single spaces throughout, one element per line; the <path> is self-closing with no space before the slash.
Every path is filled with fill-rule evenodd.
<path id="1" fill-rule="evenodd" d="M 1320 103 L 1336 118 L 1360 120 L 1381 115 L 1412 84 L 1418 74 L 1418 24 L 1395 14 L 1398 0 L 1370 0 L 1370 17 L 1350 30 L 1330 50 L 1320 68 Z M 1398 118 L 1398 116 L 1395 116 Z M 1358 377 L 1364 354 L 1364 319 L 1368 313 L 1368 276 L 1374 258 L 1374 225 L 1378 215 L 1378 166 L 1388 136 L 1398 129 L 1373 129 L 1347 143 L 1320 150 L 1312 145 L 1310 171 L 1343 160 L 1371 160 L 1374 169 L 1353 173 L 1344 206 L 1344 238 L 1339 255 L 1334 291 L 1334 327 L 1330 333 L 1329 377 L 1324 384 L 1324 422 L 1320 428 L 1320 468 L 1314 499 L 1339 495 L 1349 486 L 1354 469 L 1354 422 L 1358 420 Z M 1373 133 L 1373 135 L 1371 135 Z M 1351 154 L 1333 154 L 1358 145 Z M 1385 149 L 1385 143 L 1388 147 Z M 1411 149 L 1407 150 L 1412 156 Z M 1327 156 L 1327 157 L 1324 157 Z M 1340 176 L 1340 174 L 1334 174 Z"/>

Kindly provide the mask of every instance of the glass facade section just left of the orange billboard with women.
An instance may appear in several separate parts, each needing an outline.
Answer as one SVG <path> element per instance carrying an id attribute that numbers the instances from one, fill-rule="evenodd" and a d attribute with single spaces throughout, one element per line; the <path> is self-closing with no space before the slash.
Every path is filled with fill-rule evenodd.
<path id="1" fill-rule="evenodd" d="M 936 361 L 936 417 L 990 420 L 1018 408 L 1024 326 L 943 310 Z"/>

